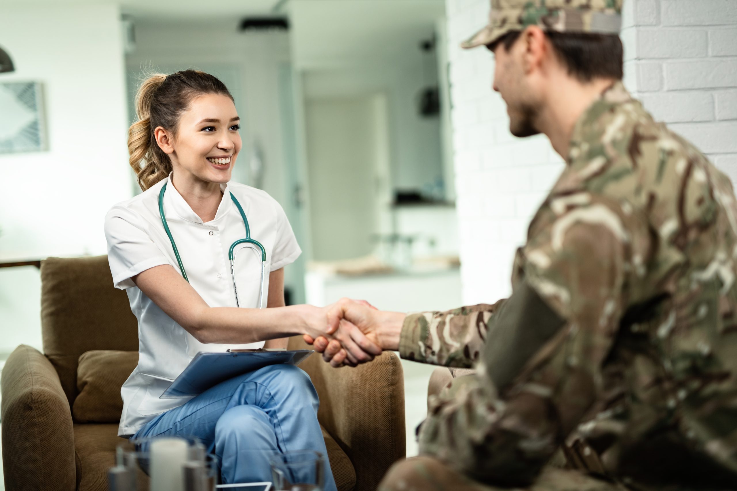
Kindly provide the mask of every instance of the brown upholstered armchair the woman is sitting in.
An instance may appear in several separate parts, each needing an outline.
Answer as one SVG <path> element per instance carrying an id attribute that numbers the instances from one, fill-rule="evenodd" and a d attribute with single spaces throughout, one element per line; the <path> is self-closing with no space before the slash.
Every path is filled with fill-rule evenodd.
<path id="1" fill-rule="evenodd" d="M 118 423 L 112 420 L 80 422 L 74 402 L 80 380 L 88 376 L 82 373 L 80 356 L 114 350 L 116 360 L 133 360 L 128 362 L 132 370 L 138 350 L 136 318 L 125 292 L 112 286 L 106 256 L 42 262 L 41 328 L 44 353 L 21 345 L 2 371 L 5 487 L 105 490 L 115 447 L 124 440 L 117 437 Z M 290 348 L 301 346 L 301 339 L 290 339 Z M 374 490 L 388 467 L 405 456 L 399 359 L 384 353 L 357 369 L 335 370 L 312 356 L 301 368 L 320 395 L 318 419 L 338 490 Z M 130 372 L 128 367 L 121 370 Z M 122 384 L 112 376 L 109 380 L 112 392 Z M 122 408 L 119 390 L 117 398 L 99 401 L 98 406 L 107 407 L 109 414 L 110 408 Z M 139 490 L 147 489 L 148 479 L 139 473 Z"/>

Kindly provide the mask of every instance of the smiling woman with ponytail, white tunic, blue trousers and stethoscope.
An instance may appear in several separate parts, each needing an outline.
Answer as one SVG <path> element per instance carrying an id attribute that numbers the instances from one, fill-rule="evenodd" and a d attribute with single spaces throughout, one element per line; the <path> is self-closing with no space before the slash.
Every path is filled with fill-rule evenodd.
<path id="1" fill-rule="evenodd" d="M 230 182 L 242 143 L 220 80 L 194 70 L 153 75 L 139 88 L 136 111 L 128 150 L 144 192 L 105 217 L 113 283 L 128 292 L 139 322 L 139 364 L 121 389 L 118 434 L 199 437 L 220 458 L 224 483 L 270 481 L 269 453 L 327 456 L 317 394 L 297 367 L 273 365 L 195 398 L 159 399 L 199 351 L 286 347 L 285 336 L 304 333 L 353 343 L 354 361 L 380 349 L 330 308 L 284 306 L 283 268 L 301 250 L 279 203 Z M 247 236 L 245 217 L 262 249 L 253 241 L 231 248 Z M 259 308 L 261 289 L 268 308 Z"/>

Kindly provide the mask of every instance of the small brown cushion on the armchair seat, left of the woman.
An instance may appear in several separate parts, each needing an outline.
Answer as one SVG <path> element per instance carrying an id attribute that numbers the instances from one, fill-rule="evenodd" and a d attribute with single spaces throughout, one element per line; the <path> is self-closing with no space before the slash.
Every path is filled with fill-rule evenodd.
<path id="1" fill-rule="evenodd" d="M 83 353 L 77 366 L 77 390 L 71 408 L 78 423 L 118 423 L 123 411 L 120 386 L 138 364 L 137 351 Z"/>

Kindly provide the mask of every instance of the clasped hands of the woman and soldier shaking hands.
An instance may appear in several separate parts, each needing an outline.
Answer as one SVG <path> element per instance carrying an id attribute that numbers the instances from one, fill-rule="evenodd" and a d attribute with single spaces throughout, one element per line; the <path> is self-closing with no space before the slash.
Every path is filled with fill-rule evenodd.
<path id="1" fill-rule="evenodd" d="M 356 367 L 383 350 L 399 349 L 406 314 L 380 311 L 365 300 L 347 298 L 320 311 L 320 317 L 326 316 L 326 328 L 319 320 L 310 322 L 315 327 L 304 334 L 304 341 L 322 353 L 332 367 Z"/>

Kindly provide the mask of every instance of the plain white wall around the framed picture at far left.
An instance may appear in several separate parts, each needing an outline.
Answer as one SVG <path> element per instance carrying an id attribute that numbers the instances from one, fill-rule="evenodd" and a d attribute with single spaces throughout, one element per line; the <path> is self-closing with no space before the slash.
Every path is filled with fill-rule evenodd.
<path id="1" fill-rule="evenodd" d="M 115 5 L 2 7 L 0 45 L 43 83 L 48 150 L 0 155 L 0 255 L 104 254 L 105 213 L 130 196 L 125 85 Z M 0 269 L 0 352 L 41 347 L 40 281 Z"/>

